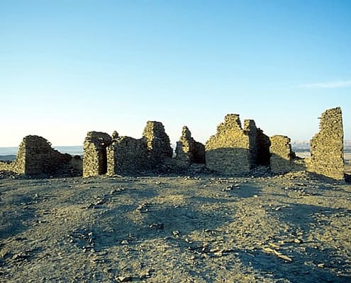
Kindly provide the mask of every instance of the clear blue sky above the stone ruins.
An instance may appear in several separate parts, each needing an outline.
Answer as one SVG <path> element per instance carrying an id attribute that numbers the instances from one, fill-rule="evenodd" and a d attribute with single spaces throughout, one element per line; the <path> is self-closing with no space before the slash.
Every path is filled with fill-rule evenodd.
<path id="1" fill-rule="evenodd" d="M 39 134 L 206 141 L 227 113 L 311 139 L 328 108 L 351 139 L 351 1 L 0 1 L 0 146 Z"/>

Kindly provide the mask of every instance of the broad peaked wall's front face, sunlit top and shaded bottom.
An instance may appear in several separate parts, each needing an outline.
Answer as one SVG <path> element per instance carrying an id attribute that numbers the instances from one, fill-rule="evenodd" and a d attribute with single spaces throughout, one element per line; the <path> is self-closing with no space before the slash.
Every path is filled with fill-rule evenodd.
<path id="1" fill-rule="evenodd" d="M 225 175 L 240 175 L 250 171 L 250 137 L 241 127 L 237 114 L 225 116 L 216 134 L 206 141 L 205 149 L 206 167 L 211 171 Z"/>

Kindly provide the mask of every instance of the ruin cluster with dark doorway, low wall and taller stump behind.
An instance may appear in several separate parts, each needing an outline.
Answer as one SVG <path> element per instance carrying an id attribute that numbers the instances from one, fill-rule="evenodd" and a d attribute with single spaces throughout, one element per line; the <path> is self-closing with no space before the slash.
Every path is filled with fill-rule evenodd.
<path id="1" fill-rule="evenodd" d="M 88 132 L 84 141 L 83 176 L 158 171 L 173 150 L 161 122 L 148 121 L 141 139 Z"/>

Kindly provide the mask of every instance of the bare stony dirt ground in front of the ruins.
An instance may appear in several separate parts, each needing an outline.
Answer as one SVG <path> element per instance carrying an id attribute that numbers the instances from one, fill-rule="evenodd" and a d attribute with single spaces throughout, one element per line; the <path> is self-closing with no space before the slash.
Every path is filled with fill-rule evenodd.
<path id="1" fill-rule="evenodd" d="M 0 180 L 0 282 L 351 282 L 351 185 Z"/>

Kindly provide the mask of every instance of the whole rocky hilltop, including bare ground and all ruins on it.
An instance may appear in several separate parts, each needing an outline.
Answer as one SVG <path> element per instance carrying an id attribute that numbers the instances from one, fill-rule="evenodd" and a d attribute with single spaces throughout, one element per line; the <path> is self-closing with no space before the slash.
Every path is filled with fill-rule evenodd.
<path id="1" fill-rule="evenodd" d="M 340 108 L 298 158 L 226 115 L 206 144 L 162 123 L 89 132 L 84 158 L 28 136 L 0 164 L 0 282 L 350 282 Z"/>

